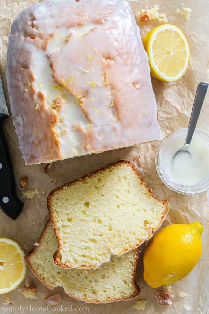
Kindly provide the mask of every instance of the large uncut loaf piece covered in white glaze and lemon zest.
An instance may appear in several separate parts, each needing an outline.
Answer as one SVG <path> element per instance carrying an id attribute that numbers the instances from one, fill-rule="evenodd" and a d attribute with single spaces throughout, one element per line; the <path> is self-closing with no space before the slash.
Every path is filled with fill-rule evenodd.
<path id="1" fill-rule="evenodd" d="M 125 0 L 49 0 L 12 24 L 7 58 L 25 163 L 161 138 L 148 56 Z"/>

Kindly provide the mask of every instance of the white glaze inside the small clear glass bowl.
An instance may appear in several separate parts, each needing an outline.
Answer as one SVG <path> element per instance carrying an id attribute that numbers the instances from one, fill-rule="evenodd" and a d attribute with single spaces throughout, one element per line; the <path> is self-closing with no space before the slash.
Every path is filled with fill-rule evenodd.
<path id="1" fill-rule="evenodd" d="M 197 133 L 198 134 L 198 133 Z M 159 154 L 159 163 L 165 178 L 175 184 L 198 186 L 209 176 L 209 143 L 195 134 L 190 144 L 190 154 L 175 153 L 183 147 L 185 134 L 167 140 Z M 174 158 L 174 159 L 173 159 Z"/>

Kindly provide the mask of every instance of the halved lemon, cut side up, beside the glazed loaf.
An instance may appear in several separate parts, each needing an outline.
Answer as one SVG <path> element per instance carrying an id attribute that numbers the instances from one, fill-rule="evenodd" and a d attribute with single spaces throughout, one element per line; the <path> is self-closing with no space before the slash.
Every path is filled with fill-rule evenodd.
<path id="1" fill-rule="evenodd" d="M 190 49 L 180 28 L 171 24 L 160 25 L 150 30 L 142 41 L 154 78 L 176 81 L 186 72 Z"/>

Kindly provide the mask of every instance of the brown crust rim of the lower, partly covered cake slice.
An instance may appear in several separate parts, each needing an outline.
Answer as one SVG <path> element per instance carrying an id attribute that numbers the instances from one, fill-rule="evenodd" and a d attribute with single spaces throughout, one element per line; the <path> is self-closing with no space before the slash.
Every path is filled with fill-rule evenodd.
<path id="1" fill-rule="evenodd" d="M 45 231 L 47 230 L 48 228 L 48 225 L 50 224 L 50 218 L 47 220 L 46 222 L 46 225 L 44 226 L 44 229 L 42 230 L 42 233 L 41 233 L 41 236 L 39 237 L 39 240 L 37 241 L 37 243 L 39 245 L 41 245 L 41 242 L 43 240 L 43 236 L 44 236 L 44 233 Z M 30 258 L 33 258 L 33 255 L 34 253 L 38 250 L 38 247 L 39 246 L 34 246 L 34 249 L 30 252 L 28 252 L 26 255 L 25 255 L 25 262 L 26 264 L 28 265 L 28 267 L 30 268 L 30 270 L 32 271 L 32 273 L 45 285 L 47 286 L 47 288 L 49 288 L 50 290 L 53 290 L 56 286 L 52 286 L 48 283 L 46 283 L 46 281 L 44 280 L 44 278 L 41 278 L 39 276 L 39 274 L 35 271 L 35 269 L 33 268 L 31 262 L 30 262 Z M 133 284 L 133 288 L 134 288 L 134 293 L 129 295 L 128 297 L 126 298 L 118 298 L 118 299 L 108 299 L 108 300 L 104 300 L 103 302 L 101 302 L 101 300 L 89 300 L 89 299 L 84 299 L 84 298 L 78 298 L 76 297 L 76 295 L 73 295 L 73 294 L 70 294 L 70 293 L 66 293 L 67 295 L 71 296 L 72 298 L 75 298 L 79 301 L 85 301 L 87 303 L 110 303 L 110 302 L 116 302 L 116 301 L 123 301 L 123 300 L 130 300 L 130 299 L 134 299 L 136 298 L 140 292 L 141 292 L 141 289 L 139 288 L 138 284 L 136 283 L 136 271 L 137 271 L 137 264 L 138 264 L 138 258 L 139 258 L 139 253 L 140 253 L 140 247 L 138 247 L 136 250 L 135 250 L 135 257 L 134 257 L 134 267 L 133 267 L 133 273 L 132 273 L 132 284 Z"/>

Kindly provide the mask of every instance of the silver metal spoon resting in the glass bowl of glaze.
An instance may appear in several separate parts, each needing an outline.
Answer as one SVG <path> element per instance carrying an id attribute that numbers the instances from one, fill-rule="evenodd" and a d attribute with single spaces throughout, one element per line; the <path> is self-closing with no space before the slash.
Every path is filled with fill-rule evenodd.
<path id="1" fill-rule="evenodd" d="M 207 88 L 208 88 L 208 83 L 206 83 L 206 82 L 201 82 L 197 86 L 194 105 L 193 105 L 193 108 L 191 111 L 191 117 L 190 117 L 190 121 L 189 121 L 188 130 L 186 133 L 186 139 L 184 142 L 184 146 L 175 153 L 175 155 L 173 157 L 173 161 L 174 161 L 174 158 L 176 157 L 176 155 L 179 154 L 180 152 L 186 152 L 186 153 L 190 154 L 189 145 L 191 143 L 191 139 L 193 137 L 193 134 L 194 134 L 194 131 L 196 128 L 197 120 L 198 120 L 199 115 L 200 115 L 200 111 L 201 111 L 202 104 L 203 104 L 203 101 L 204 101 L 204 98 L 205 98 L 205 95 L 207 92 Z"/>

